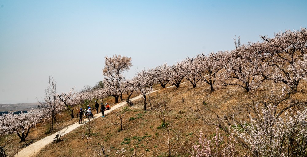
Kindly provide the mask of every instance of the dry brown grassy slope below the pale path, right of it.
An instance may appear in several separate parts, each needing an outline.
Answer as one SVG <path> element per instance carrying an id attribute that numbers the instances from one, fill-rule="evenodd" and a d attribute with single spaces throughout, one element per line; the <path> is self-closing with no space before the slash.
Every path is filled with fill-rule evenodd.
<path id="1" fill-rule="evenodd" d="M 161 87 L 161 86 L 160 86 Z M 167 116 L 166 121 L 173 125 L 173 130 L 182 130 L 181 143 L 185 144 L 186 148 L 192 144 L 202 130 L 207 135 L 214 133 L 214 126 L 203 125 L 200 120 L 196 119 L 190 112 L 190 106 L 195 103 L 202 104 L 205 100 L 207 103 L 220 103 L 231 104 L 237 102 L 245 95 L 245 91 L 237 87 L 227 87 L 217 89 L 215 92 L 210 92 L 210 87 L 206 84 L 198 84 L 197 88 L 192 88 L 189 83 L 181 84 L 181 87 L 176 88 L 160 88 L 159 92 L 149 95 L 148 99 L 154 104 L 156 98 L 169 99 L 169 107 L 171 109 L 170 114 Z M 184 102 L 182 100 L 184 99 Z M 105 99 L 105 101 L 112 101 L 113 98 Z M 113 100 L 114 102 L 114 100 Z M 149 101 L 148 101 L 149 103 Z M 109 154 L 115 155 L 118 149 L 125 148 L 127 155 L 133 154 L 132 146 L 136 145 L 138 148 L 138 154 L 143 155 L 146 153 L 148 156 L 152 156 L 153 152 L 149 148 L 157 148 L 159 155 L 165 156 L 167 150 L 165 144 L 156 142 L 158 140 L 164 140 L 160 132 L 164 129 L 158 129 L 161 126 L 161 119 L 155 114 L 154 110 L 151 110 L 150 103 L 147 111 L 143 111 L 143 100 L 138 99 L 134 102 L 135 106 L 130 107 L 130 111 L 126 113 L 128 120 L 125 123 L 123 131 L 118 131 L 119 126 L 110 124 L 111 121 L 116 121 L 117 117 L 114 114 L 109 114 L 105 118 L 99 118 L 93 128 L 91 139 L 89 140 L 90 148 L 86 148 L 86 143 L 81 138 L 81 134 L 86 132 L 85 128 L 78 128 L 69 135 L 63 137 L 63 141 L 57 144 L 50 144 L 45 147 L 39 156 L 46 156 L 55 153 L 54 156 L 93 156 L 94 150 L 100 149 L 101 146 L 105 146 L 109 149 Z M 180 111 L 180 113 L 179 113 Z M 158 136 L 156 136 L 158 133 Z M 129 144 L 122 144 L 124 139 L 130 139 Z M 140 140 L 140 141 L 139 141 Z M 147 140 L 149 145 L 146 144 Z M 127 141 L 126 141 L 127 142 Z M 150 147 L 149 147 L 150 146 Z M 146 149 L 149 151 L 146 152 Z M 55 151 L 56 150 L 56 151 Z M 82 152 L 80 154 L 80 152 Z M 185 155 L 185 154 L 183 154 Z"/>

